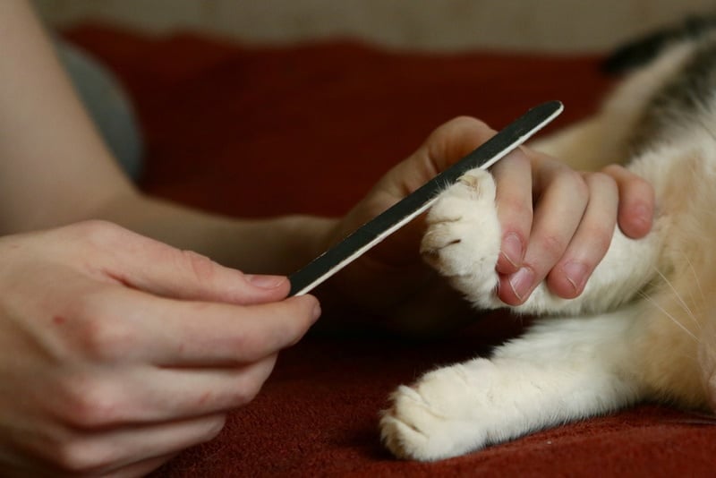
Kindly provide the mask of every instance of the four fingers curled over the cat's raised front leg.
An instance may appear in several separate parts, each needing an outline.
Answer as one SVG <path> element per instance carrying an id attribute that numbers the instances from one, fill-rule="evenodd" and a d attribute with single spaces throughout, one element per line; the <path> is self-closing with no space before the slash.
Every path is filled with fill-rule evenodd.
<path id="1" fill-rule="evenodd" d="M 502 226 L 498 295 L 509 305 L 524 303 L 542 280 L 553 294 L 576 297 L 617 224 L 635 239 L 651 229 L 652 186 L 622 166 L 577 172 L 523 148 L 491 172 Z"/>

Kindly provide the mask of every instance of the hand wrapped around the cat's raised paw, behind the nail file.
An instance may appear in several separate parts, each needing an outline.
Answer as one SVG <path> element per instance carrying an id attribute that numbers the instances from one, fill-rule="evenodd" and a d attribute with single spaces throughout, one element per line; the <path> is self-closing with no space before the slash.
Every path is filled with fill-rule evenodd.
<path id="1" fill-rule="evenodd" d="M 443 124 L 337 223 L 330 242 L 388 209 L 494 134 L 470 117 Z M 503 234 L 497 265 L 499 297 L 507 304 L 524 302 L 545 278 L 554 294 L 581 294 L 606 253 L 616 224 L 634 238 L 651 229 L 651 185 L 621 166 L 578 173 L 521 148 L 494 166 L 492 174 Z M 469 320 L 473 314 L 468 304 L 423 263 L 423 232 L 423 218 L 413 220 L 323 288 L 403 332 L 449 329 Z"/>

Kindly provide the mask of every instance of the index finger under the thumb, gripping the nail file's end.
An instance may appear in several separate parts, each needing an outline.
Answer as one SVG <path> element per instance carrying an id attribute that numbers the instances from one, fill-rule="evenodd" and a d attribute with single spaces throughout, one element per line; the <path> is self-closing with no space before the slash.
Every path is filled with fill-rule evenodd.
<path id="1" fill-rule="evenodd" d="M 234 305 L 184 302 L 116 287 L 86 298 L 69 354 L 165 366 L 251 363 L 297 342 L 320 315 L 315 297 Z"/>

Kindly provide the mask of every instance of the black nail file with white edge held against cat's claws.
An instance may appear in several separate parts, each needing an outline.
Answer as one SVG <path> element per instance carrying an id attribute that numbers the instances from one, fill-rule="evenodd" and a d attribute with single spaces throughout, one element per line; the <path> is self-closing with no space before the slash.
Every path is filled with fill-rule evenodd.
<path id="1" fill-rule="evenodd" d="M 455 184 L 460 176 L 475 167 L 487 169 L 492 166 L 549 124 L 563 109 L 564 107 L 559 101 L 550 101 L 527 111 L 465 158 L 460 159 L 453 166 L 448 167 L 426 184 L 405 196 L 401 201 L 396 202 L 360 226 L 351 235 L 346 236 L 341 242 L 312 260 L 303 269 L 294 272 L 289 277 L 291 281 L 290 294 L 307 294 L 314 287 L 319 286 L 328 277 L 345 268 L 363 253 L 369 251 L 371 247 L 430 208 L 430 205 L 438 198 L 439 192 L 444 191 L 448 185 Z"/>

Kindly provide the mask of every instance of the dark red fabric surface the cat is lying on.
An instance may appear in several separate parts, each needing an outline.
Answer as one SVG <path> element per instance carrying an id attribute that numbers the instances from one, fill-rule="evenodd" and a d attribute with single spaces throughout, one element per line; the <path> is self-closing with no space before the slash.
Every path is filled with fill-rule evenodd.
<path id="1" fill-rule="evenodd" d="M 148 143 L 143 188 L 241 216 L 342 214 L 453 116 L 499 128 L 556 98 L 567 107 L 558 127 L 592 112 L 610 85 L 594 55 L 426 55 L 349 41 L 241 47 L 106 27 L 67 36 L 114 68 L 136 100 Z M 156 475 L 712 474 L 716 427 L 655 405 L 437 464 L 398 461 L 381 448 L 378 412 L 396 385 L 484 353 L 516 329 L 492 314 L 422 343 L 374 333 L 307 337 L 281 355 L 260 396 L 216 440 Z"/>

